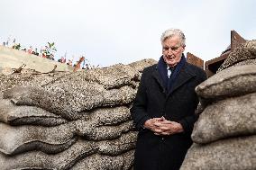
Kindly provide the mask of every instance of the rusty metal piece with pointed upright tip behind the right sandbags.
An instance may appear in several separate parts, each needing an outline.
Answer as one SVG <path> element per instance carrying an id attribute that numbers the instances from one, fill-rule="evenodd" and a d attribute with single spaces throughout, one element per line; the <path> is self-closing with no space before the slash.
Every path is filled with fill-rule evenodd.
<path id="1" fill-rule="evenodd" d="M 240 44 L 244 43 L 246 40 L 242 38 L 236 31 L 231 31 L 231 45 L 223 51 L 220 57 L 213 58 L 205 63 L 206 75 L 215 75 L 217 69 L 224 63 L 225 58 L 229 56 L 233 49 L 237 48 Z"/>

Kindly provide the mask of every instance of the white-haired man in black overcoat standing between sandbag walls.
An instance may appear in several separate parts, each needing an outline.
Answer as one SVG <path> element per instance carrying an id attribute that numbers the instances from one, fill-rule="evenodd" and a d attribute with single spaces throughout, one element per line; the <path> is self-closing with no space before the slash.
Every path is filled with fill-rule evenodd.
<path id="1" fill-rule="evenodd" d="M 164 31 L 160 40 L 162 56 L 157 65 L 143 70 L 131 109 L 139 130 L 134 170 L 179 169 L 197 121 L 195 87 L 206 80 L 203 69 L 186 62 L 182 31 Z"/>

